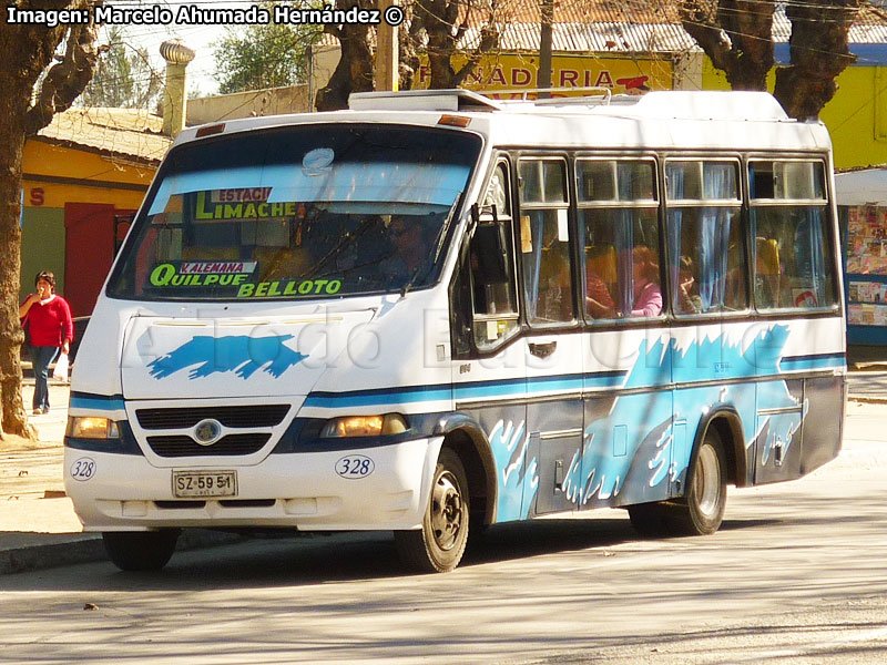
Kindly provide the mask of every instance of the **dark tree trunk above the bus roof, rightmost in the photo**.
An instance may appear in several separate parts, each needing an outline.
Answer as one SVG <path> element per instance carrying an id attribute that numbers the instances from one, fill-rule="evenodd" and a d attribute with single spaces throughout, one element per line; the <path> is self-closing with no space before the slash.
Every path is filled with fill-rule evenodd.
<path id="1" fill-rule="evenodd" d="M 816 117 L 835 93 L 835 78 L 856 60 L 847 33 L 859 0 L 798 0 L 786 6 L 792 21 L 792 63 L 776 70 L 773 94 L 792 117 Z"/>

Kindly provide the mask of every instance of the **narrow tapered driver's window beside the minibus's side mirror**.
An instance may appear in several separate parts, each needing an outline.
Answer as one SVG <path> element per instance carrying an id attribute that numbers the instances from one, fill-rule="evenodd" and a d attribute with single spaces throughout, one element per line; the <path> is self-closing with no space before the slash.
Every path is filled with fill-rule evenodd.
<path id="1" fill-rule="evenodd" d="M 472 330 L 479 350 L 489 350 L 518 329 L 514 243 L 508 164 L 500 162 L 487 187 L 480 221 L 468 247 Z"/>

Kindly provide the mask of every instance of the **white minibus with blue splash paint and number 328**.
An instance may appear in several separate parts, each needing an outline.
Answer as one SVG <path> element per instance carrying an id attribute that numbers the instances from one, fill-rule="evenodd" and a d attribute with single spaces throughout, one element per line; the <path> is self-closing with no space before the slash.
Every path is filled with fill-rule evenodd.
<path id="1" fill-rule="evenodd" d="M 428 572 L 564 511 L 712 533 L 840 449 L 832 173 L 756 92 L 186 129 L 80 346 L 68 494 L 125 570 L 183 528 L 394 531 Z"/>

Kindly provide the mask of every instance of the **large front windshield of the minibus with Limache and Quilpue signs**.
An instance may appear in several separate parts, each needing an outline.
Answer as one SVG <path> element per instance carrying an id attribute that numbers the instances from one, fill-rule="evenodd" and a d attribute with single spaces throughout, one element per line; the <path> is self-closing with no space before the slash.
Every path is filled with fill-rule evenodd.
<path id="1" fill-rule="evenodd" d="M 172 153 L 108 295 L 320 298 L 431 284 L 477 136 L 312 124 Z"/>

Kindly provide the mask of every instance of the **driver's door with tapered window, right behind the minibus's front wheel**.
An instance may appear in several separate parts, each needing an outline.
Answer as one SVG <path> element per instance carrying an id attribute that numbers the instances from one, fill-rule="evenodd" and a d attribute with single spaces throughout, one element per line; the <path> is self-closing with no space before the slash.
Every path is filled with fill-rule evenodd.
<path id="1" fill-rule="evenodd" d="M 496 461 L 496 520 L 527 519 L 536 483 L 527 459 L 527 376 L 518 314 L 509 164 L 500 161 L 472 219 L 453 290 L 456 409 L 478 422 Z"/>

